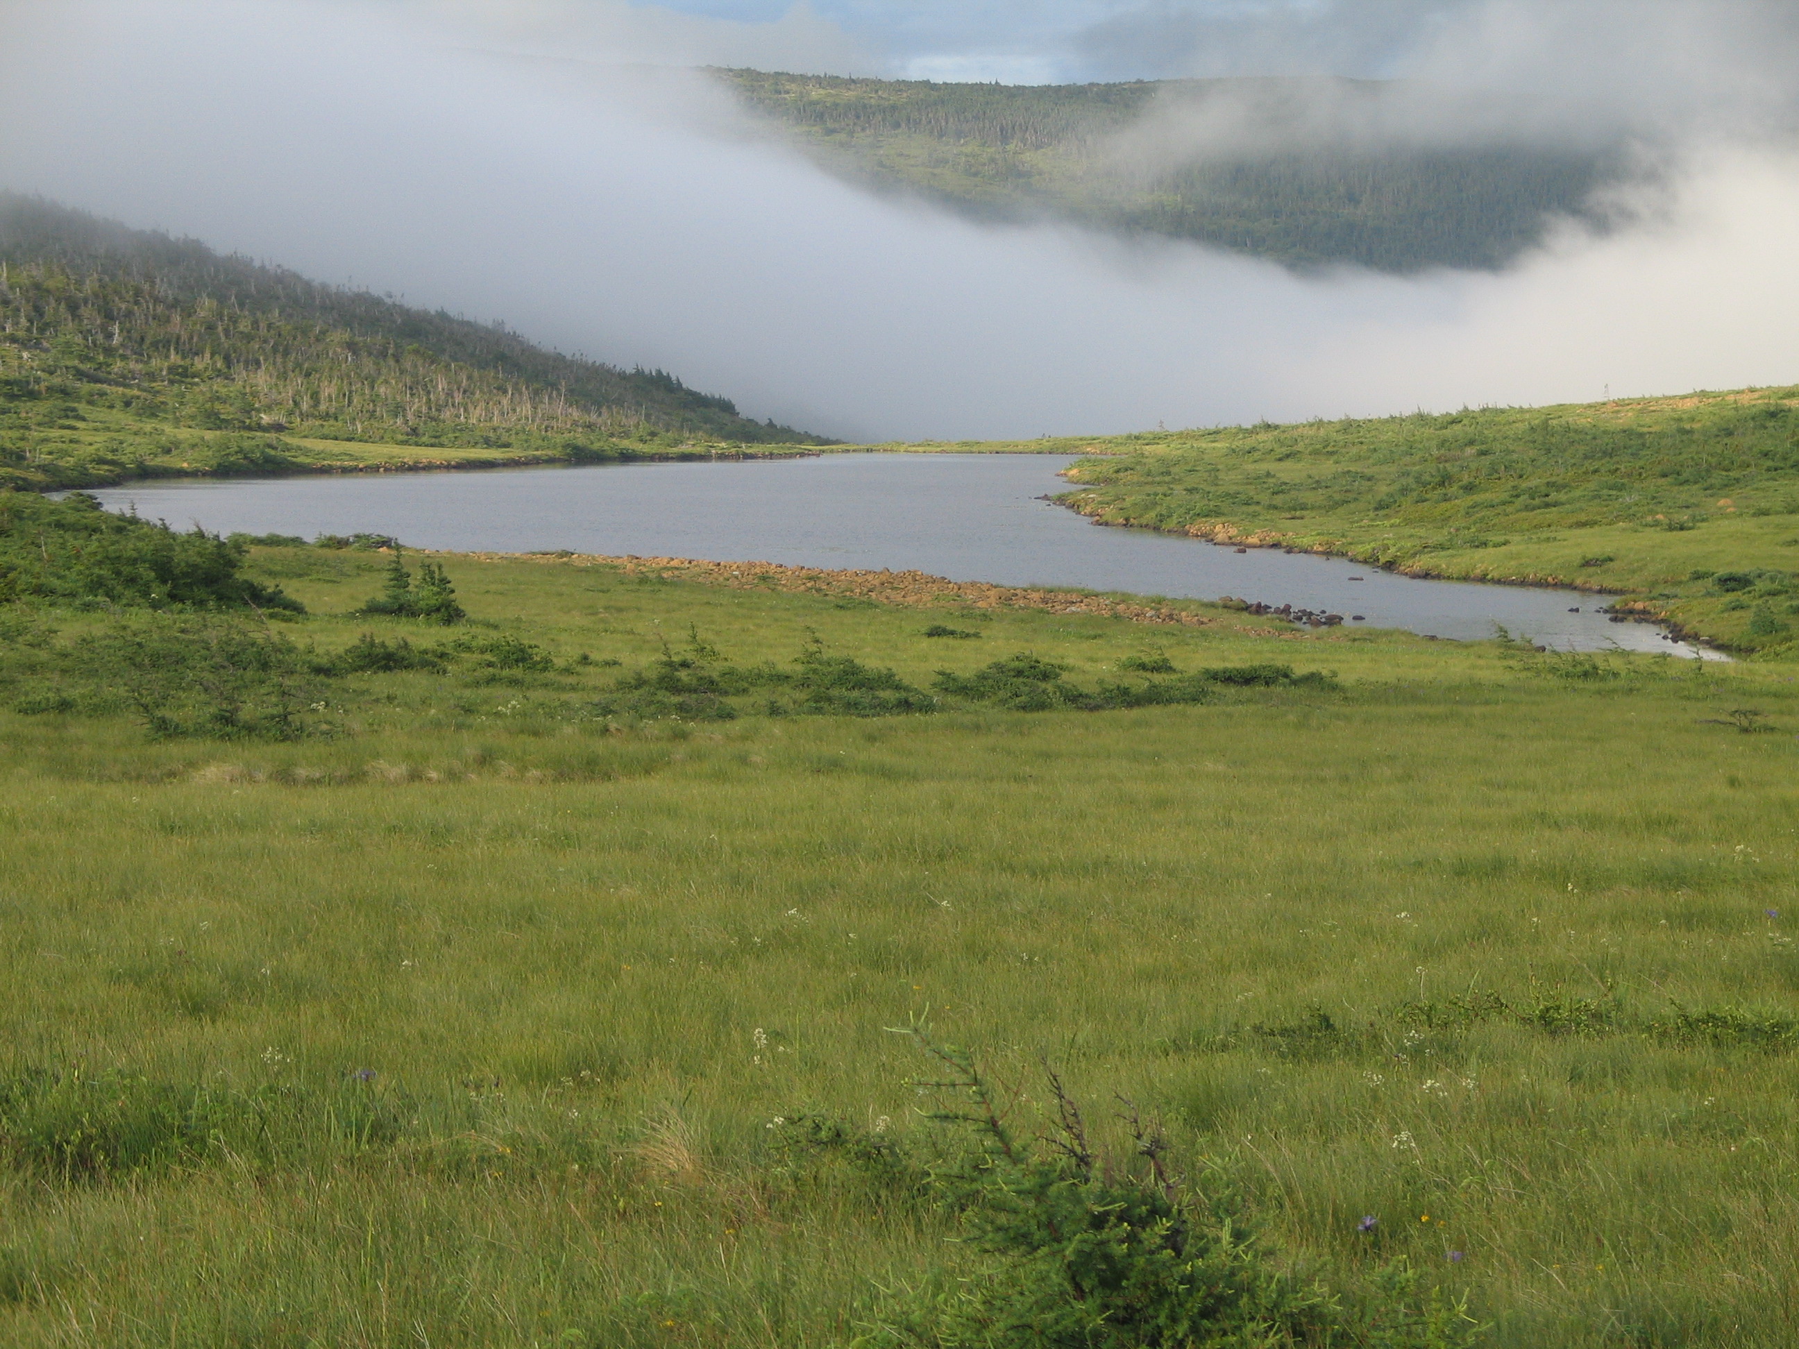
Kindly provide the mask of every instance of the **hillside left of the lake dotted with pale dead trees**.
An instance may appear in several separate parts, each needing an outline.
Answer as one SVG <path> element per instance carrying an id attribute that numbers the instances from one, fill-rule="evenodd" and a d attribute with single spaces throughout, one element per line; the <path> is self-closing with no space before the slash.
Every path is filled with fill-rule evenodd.
<path id="1" fill-rule="evenodd" d="M 0 482 L 615 459 L 694 442 L 817 437 L 741 417 L 662 371 L 563 356 L 502 326 L 0 194 Z"/>

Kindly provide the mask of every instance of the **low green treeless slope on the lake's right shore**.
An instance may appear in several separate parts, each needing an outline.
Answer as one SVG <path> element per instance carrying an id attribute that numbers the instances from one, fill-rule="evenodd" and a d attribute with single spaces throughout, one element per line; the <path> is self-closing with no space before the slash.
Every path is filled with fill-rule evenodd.
<path id="1" fill-rule="evenodd" d="M 1096 455 L 1063 500 L 1103 523 L 1601 590 L 1738 651 L 1799 637 L 1799 387 L 980 448 Z"/>

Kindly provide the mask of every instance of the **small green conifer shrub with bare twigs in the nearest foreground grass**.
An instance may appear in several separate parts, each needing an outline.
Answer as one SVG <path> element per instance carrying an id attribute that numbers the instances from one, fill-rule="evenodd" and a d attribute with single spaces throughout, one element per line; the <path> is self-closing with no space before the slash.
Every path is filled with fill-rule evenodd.
<path id="1" fill-rule="evenodd" d="M 973 1059 L 919 1040 L 946 1077 L 917 1083 L 966 1104 L 934 1115 L 973 1149 L 935 1180 L 984 1259 L 892 1299 L 864 1345 L 930 1349 L 1270 1349 L 1378 1344 L 1457 1349 L 1482 1329 L 1464 1304 L 1421 1291 L 1405 1264 L 1351 1300 L 1286 1272 L 1218 1194 L 1169 1171 L 1168 1144 L 1132 1108 L 1135 1162 L 1101 1158 L 1049 1074 L 1052 1131 L 1006 1124 Z"/>

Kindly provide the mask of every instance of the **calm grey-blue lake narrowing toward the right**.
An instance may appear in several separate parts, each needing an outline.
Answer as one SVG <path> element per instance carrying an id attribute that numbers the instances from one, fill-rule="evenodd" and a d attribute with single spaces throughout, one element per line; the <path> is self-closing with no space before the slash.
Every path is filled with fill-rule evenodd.
<path id="1" fill-rule="evenodd" d="M 639 554 L 916 568 L 955 581 L 1085 586 L 1362 615 L 1369 628 L 1540 646 L 1711 655 L 1610 622 L 1574 590 L 1418 581 L 1275 549 L 1101 529 L 1040 500 L 1067 455 L 822 455 L 308 478 L 151 482 L 95 491 L 171 525 L 250 534 L 392 534 L 419 549 Z M 1578 610 L 1578 612 L 1571 612 Z M 1364 626 L 1356 624 L 1356 626 Z"/>

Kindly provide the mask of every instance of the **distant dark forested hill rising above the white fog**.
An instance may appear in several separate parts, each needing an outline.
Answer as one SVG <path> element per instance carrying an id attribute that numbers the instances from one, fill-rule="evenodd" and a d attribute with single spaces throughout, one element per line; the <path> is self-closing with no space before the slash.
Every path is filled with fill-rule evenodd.
<path id="1" fill-rule="evenodd" d="M 1052 216 L 1234 248 L 1290 266 L 1497 268 L 1554 216 L 1589 216 L 1608 153 L 1522 146 L 1355 149 L 1293 133 L 1320 88 L 1351 108 L 1371 81 L 1178 79 L 1124 85 L 937 85 L 716 72 L 743 103 L 853 180 L 986 219 Z M 1241 142 L 1144 158 L 1151 119 L 1231 101 Z M 1279 149 L 1293 144 L 1306 147 Z"/>

